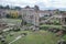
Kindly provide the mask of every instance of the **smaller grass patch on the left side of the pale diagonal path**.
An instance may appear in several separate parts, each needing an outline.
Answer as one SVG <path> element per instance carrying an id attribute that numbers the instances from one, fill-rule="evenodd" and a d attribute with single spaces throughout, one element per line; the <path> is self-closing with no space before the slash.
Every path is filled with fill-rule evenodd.
<path id="1" fill-rule="evenodd" d="M 29 31 L 19 31 L 19 32 L 10 32 L 7 35 L 7 42 L 12 42 L 13 40 L 15 40 L 16 36 L 21 35 L 21 33 L 28 33 Z M 10 34 L 13 33 L 13 36 L 10 36 Z"/>

